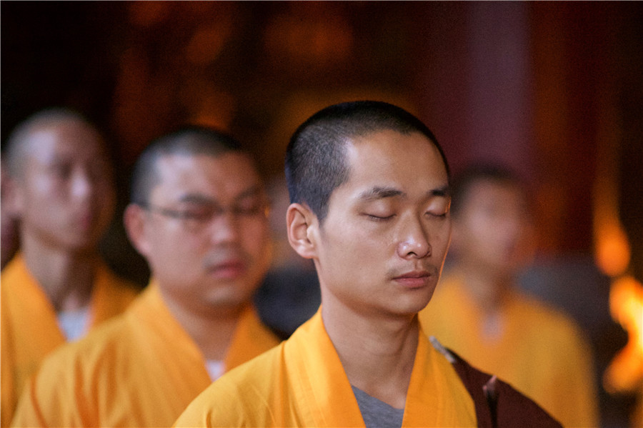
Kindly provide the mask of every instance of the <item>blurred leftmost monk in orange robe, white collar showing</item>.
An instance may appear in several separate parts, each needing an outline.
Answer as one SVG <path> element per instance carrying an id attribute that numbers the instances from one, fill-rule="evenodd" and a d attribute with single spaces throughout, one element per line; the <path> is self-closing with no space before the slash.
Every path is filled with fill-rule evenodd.
<path id="1" fill-rule="evenodd" d="M 97 244 L 114 214 L 111 165 L 98 131 L 72 111 L 41 111 L 9 136 L 3 222 L 21 250 L 1 274 L 1 425 L 51 351 L 119 314 L 136 287 L 116 277 Z M 4 236 L 3 236 L 4 239 Z"/>

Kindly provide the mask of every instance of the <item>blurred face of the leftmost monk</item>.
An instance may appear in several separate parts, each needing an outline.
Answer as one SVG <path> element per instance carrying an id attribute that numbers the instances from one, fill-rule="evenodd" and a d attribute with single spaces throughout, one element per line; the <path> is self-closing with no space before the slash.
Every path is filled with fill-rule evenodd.
<path id="1" fill-rule="evenodd" d="M 21 233 L 29 242 L 93 251 L 114 214 L 111 166 L 94 129 L 59 121 L 31 132 L 16 179 Z"/>

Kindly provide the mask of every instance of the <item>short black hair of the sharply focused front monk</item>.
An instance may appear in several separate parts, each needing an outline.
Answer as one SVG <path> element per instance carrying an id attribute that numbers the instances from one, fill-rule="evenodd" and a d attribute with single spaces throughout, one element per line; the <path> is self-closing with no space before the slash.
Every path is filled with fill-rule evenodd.
<path id="1" fill-rule="evenodd" d="M 286 182 L 291 203 L 305 203 L 323 222 L 330 195 L 349 179 L 349 139 L 384 130 L 426 136 L 437 147 L 449 176 L 442 147 L 417 117 L 383 101 L 346 102 L 318 111 L 291 137 L 286 149 Z"/>

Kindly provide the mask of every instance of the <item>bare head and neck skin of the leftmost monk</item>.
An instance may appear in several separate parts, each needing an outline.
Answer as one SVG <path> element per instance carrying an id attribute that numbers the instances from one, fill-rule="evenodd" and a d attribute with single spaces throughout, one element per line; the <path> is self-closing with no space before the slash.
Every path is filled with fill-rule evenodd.
<path id="1" fill-rule="evenodd" d="M 89 304 L 99 262 L 96 244 L 114 214 L 102 142 L 77 119 L 36 124 L 21 140 L 14 159 L 20 167 L 6 186 L 24 261 L 56 312 Z"/>

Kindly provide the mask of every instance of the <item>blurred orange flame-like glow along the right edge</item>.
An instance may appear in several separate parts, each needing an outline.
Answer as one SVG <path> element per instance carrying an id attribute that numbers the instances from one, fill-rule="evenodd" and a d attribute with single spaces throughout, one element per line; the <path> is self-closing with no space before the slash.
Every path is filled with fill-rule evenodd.
<path id="1" fill-rule="evenodd" d="M 603 88 L 597 138 L 597 174 L 594 181 L 594 251 L 600 269 L 612 277 L 609 309 L 614 321 L 627 331 L 627 344 L 603 373 L 607 392 L 637 395 L 632 427 L 643 426 L 643 284 L 627 274 L 632 249 L 620 222 L 618 185 L 622 129 L 615 91 Z"/>

